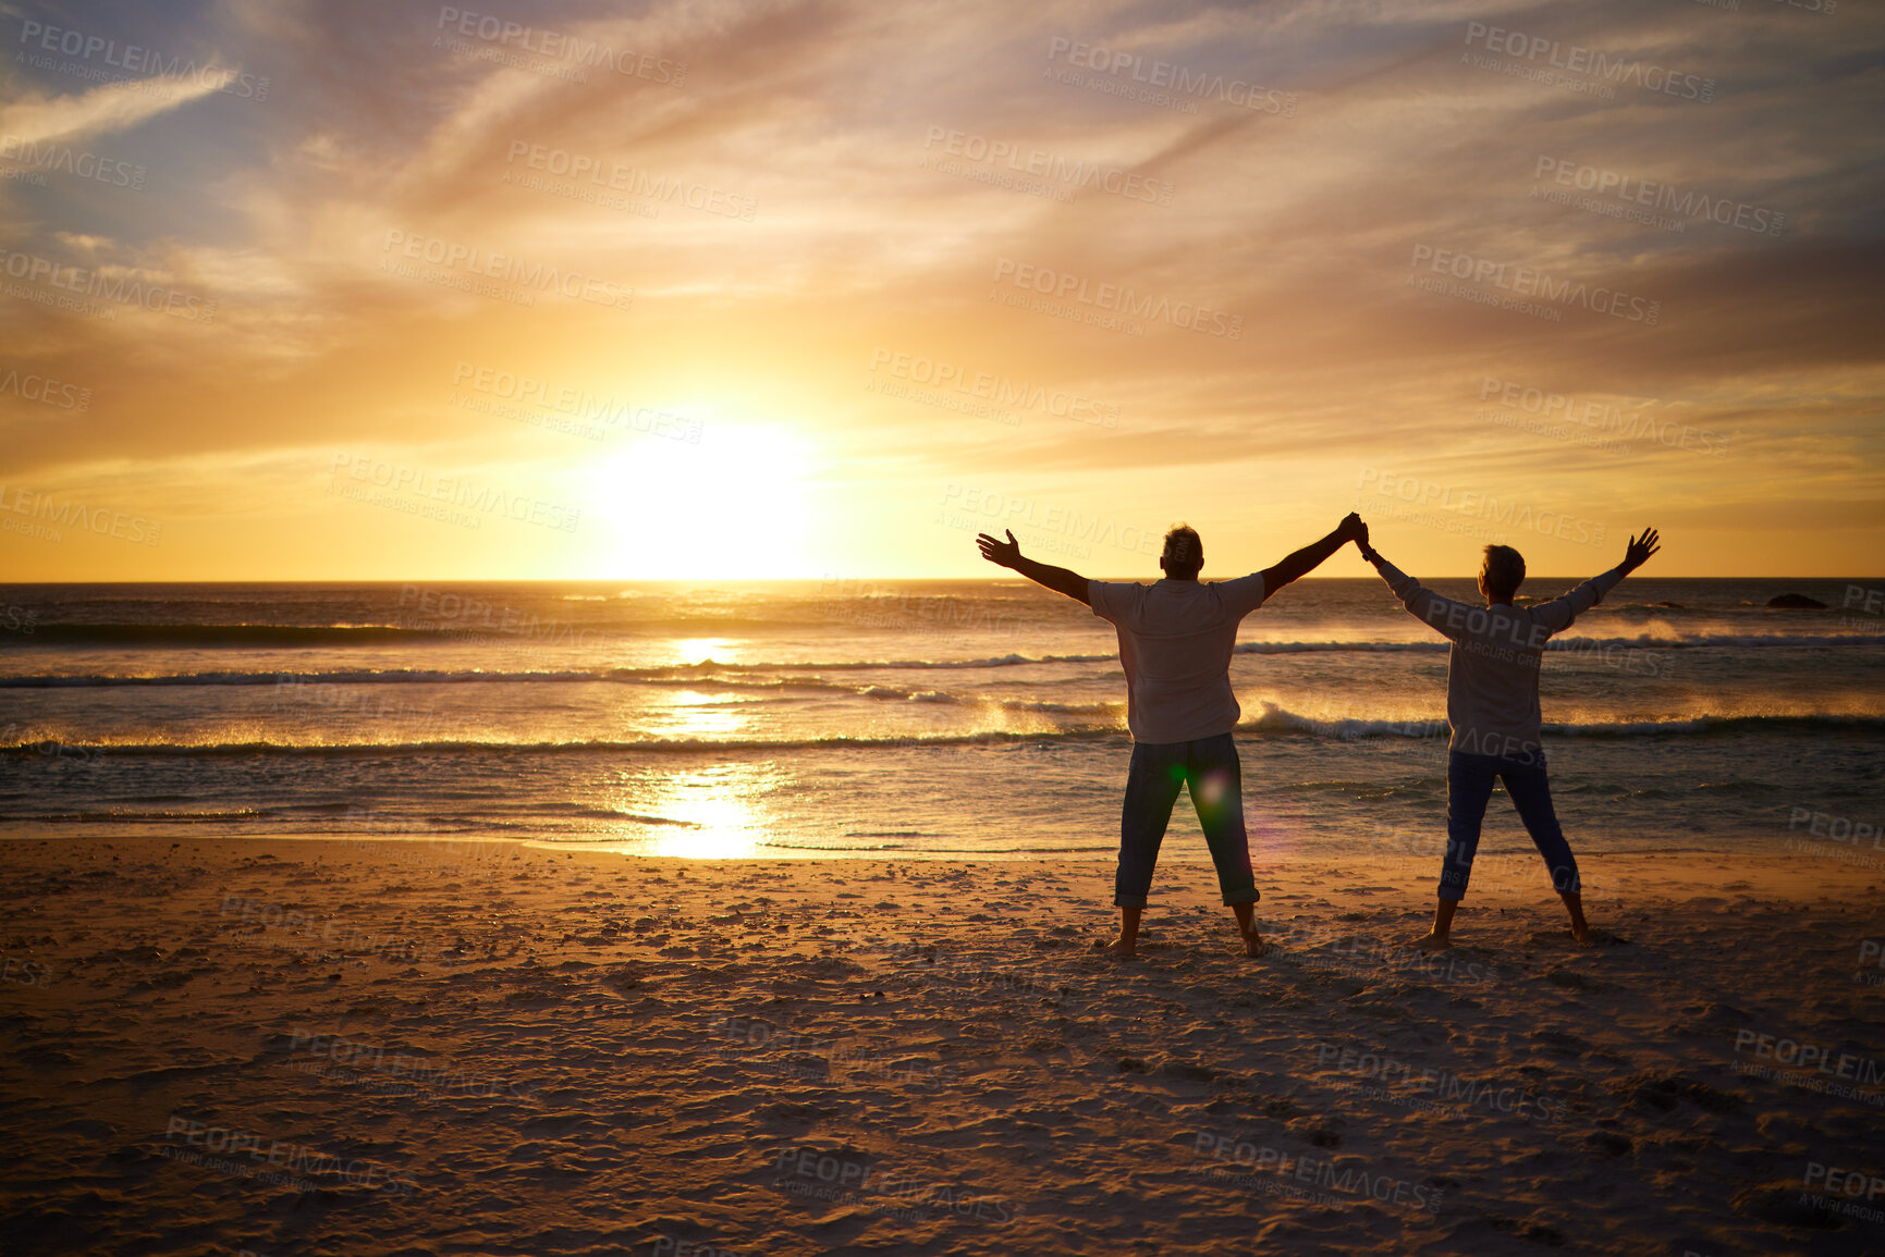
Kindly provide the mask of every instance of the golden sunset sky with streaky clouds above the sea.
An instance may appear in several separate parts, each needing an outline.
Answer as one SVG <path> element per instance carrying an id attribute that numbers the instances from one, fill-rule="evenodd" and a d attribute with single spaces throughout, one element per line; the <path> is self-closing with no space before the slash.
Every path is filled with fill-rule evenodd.
<path id="1" fill-rule="evenodd" d="M 1844 0 L 0 4 L 0 580 L 1876 575 Z M 1352 558 L 1352 556 L 1348 556 Z M 1320 575 L 1367 575 L 1335 560 Z"/>

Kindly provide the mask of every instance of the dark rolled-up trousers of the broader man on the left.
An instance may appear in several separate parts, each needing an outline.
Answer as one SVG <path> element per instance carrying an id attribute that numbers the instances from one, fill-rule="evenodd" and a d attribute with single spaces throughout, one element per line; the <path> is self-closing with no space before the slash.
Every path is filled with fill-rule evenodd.
<path id="1" fill-rule="evenodd" d="M 1171 824 L 1178 788 L 1191 790 L 1191 807 L 1205 827 L 1205 844 L 1218 865 L 1218 890 L 1225 903 L 1261 899 L 1250 873 L 1250 837 L 1244 833 L 1244 773 L 1229 733 L 1189 743 L 1133 743 L 1133 767 L 1125 773 L 1125 807 L 1120 810 L 1120 871 L 1112 905 L 1146 906 L 1152 867 Z"/>

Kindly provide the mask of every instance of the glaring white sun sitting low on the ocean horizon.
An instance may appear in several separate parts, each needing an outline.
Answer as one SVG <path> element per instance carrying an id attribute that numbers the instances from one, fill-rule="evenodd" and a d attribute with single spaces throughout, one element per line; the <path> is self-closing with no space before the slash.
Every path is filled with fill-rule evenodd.
<path id="1" fill-rule="evenodd" d="M 647 435 L 594 464 L 594 567 L 647 580 L 780 580 L 816 575 L 812 454 L 790 430 L 705 422 L 697 443 Z"/>

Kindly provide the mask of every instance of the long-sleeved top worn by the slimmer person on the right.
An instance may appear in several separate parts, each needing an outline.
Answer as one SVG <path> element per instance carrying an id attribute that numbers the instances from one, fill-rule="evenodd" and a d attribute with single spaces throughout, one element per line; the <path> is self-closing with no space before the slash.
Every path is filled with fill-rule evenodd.
<path id="1" fill-rule="evenodd" d="M 1446 656 L 1446 722 L 1453 727 L 1448 750 L 1521 759 L 1542 750 L 1544 645 L 1623 579 L 1617 565 L 1548 603 L 1474 607 L 1434 594 L 1385 558 L 1376 569 L 1408 614 L 1453 643 Z"/>

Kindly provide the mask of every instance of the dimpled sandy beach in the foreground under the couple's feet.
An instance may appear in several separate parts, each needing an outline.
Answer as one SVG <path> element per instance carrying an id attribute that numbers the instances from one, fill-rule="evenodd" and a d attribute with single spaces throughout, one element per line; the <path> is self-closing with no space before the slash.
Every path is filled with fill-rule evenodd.
<path id="1" fill-rule="evenodd" d="M 1174 841 L 1172 848 L 1182 844 Z M 1203 852 L 1197 852 L 1199 856 Z M 9 842 L 8 1253 L 1885 1251 L 1877 876 Z"/>

